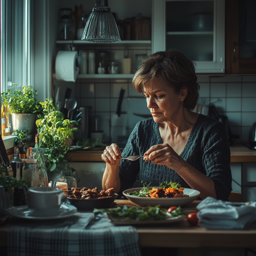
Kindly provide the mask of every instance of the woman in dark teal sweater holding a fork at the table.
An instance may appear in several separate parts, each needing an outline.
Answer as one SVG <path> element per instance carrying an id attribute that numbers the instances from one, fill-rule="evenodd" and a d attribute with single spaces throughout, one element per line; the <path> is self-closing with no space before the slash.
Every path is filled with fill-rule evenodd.
<path id="1" fill-rule="evenodd" d="M 194 63 L 177 50 L 156 52 L 142 61 L 133 87 L 146 97 L 153 118 L 137 123 L 122 157 L 144 155 L 136 161 L 122 160 L 118 145 L 106 147 L 102 187 L 122 195 L 136 176 L 151 186 L 178 182 L 211 196 L 227 200 L 231 192 L 230 149 L 223 124 L 192 112 L 199 85 Z"/>

